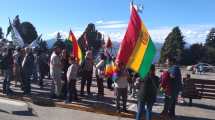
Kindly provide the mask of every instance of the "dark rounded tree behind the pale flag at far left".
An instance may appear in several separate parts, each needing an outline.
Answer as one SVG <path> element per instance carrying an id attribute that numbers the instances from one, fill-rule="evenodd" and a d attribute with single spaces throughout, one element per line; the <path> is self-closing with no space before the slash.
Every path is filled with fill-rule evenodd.
<path id="1" fill-rule="evenodd" d="M 30 22 L 21 23 L 20 32 L 25 44 L 30 44 L 38 37 L 35 27 Z"/>

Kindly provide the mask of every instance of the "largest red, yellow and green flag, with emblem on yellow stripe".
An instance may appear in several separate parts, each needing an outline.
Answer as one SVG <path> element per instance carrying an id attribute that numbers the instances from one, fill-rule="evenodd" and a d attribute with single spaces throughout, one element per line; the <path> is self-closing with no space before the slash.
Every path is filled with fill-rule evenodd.
<path id="1" fill-rule="evenodd" d="M 125 64 L 144 78 L 148 73 L 156 48 L 137 10 L 132 6 L 127 32 L 120 45 L 116 62 Z"/>

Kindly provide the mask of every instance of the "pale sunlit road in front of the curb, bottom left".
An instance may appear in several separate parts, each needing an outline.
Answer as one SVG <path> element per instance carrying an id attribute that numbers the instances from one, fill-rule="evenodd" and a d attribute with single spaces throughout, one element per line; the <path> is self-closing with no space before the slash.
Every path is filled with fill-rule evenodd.
<path id="1" fill-rule="evenodd" d="M 132 120 L 0 98 L 0 120 Z"/>

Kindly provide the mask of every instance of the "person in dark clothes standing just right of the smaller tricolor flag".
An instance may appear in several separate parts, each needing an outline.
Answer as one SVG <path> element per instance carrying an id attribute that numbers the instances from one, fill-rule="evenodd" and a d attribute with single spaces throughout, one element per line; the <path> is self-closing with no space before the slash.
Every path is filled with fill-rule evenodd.
<path id="1" fill-rule="evenodd" d="M 92 51 L 88 50 L 86 52 L 86 56 L 84 61 L 81 64 L 81 95 L 84 95 L 84 86 L 87 81 L 87 94 L 91 95 L 90 87 L 92 83 L 92 75 L 93 75 L 93 54 Z"/>

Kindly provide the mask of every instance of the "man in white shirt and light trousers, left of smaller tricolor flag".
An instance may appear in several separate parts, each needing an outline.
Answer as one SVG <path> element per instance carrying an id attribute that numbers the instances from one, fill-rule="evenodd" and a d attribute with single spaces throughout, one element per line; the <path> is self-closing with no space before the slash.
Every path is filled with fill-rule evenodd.
<path id="1" fill-rule="evenodd" d="M 60 97 L 62 81 L 61 81 L 61 73 L 62 73 L 62 63 L 60 59 L 61 48 L 59 46 L 54 46 L 54 51 L 51 55 L 50 59 L 50 76 L 52 79 L 52 87 L 51 87 L 51 97 L 56 98 Z"/>

